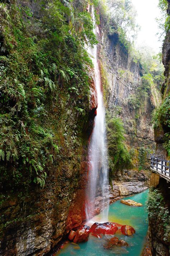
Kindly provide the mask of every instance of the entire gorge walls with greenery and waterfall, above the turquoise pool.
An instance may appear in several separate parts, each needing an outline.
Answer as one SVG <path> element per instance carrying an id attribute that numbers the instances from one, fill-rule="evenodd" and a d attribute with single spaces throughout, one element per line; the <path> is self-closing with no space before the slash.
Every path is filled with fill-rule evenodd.
<path id="1" fill-rule="evenodd" d="M 169 255 L 169 183 L 147 159 L 169 159 L 169 30 L 163 67 L 105 8 L 0 5 L 0 255 L 51 255 L 70 230 L 149 187 L 151 253 Z"/>

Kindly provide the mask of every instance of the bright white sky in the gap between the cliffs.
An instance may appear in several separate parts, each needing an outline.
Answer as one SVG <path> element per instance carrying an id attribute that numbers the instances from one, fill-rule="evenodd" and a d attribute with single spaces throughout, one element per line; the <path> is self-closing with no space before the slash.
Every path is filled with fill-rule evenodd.
<path id="1" fill-rule="evenodd" d="M 132 0 L 137 11 L 136 21 L 141 26 L 136 45 L 148 45 L 155 53 L 159 53 L 162 43 L 158 41 L 158 24 L 156 18 L 160 17 L 160 9 L 157 7 L 158 0 Z"/>

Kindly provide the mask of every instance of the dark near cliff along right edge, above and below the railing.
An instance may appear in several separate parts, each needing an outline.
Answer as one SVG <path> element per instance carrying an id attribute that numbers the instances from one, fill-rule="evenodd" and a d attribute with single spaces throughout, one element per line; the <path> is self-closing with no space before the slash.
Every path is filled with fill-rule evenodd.
<path id="1" fill-rule="evenodd" d="M 170 1 L 168 1 L 167 13 L 170 14 Z M 168 31 L 164 40 L 162 48 L 162 62 L 165 67 L 164 75 L 165 81 L 161 87 L 162 93 L 162 105 L 158 112 L 157 121 L 159 125 L 155 127 L 155 141 L 156 141 L 156 154 L 165 155 L 166 159 L 169 159 L 168 155 L 168 143 L 169 137 L 165 137 L 165 134 L 169 133 L 168 123 L 170 120 L 169 110 L 166 112 L 166 106 L 169 106 L 169 93 L 170 93 L 170 32 Z M 156 182 L 154 182 L 157 180 Z M 149 204 L 151 211 L 155 211 L 155 216 L 149 214 L 149 239 L 152 255 L 169 255 L 170 246 L 170 189 L 169 183 L 166 182 L 164 178 L 160 178 L 156 173 L 151 175 L 151 186 L 156 188 L 157 192 L 160 193 L 162 201 L 162 213 L 156 212 L 156 207 L 153 203 Z M 152 193 L 152 191 L 150 192 Z M 158 200 L 160 204 L 160 200 Z M 152 207 L 155 207 L 152 209 Z M 163 219 L 164 212 L 166 213 L 166 218 Z"/>

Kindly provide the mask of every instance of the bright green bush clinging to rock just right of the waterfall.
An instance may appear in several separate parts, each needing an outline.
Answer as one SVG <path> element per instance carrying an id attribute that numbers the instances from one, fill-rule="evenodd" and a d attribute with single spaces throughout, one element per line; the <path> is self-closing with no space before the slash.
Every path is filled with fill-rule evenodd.
<path id="1" fill-rule="evenodd" d="M 121 168 L 131 167 L 131 156 L 127 150 L 122 120 L 107 115 L 107 144 L 110 176 Z"/>

